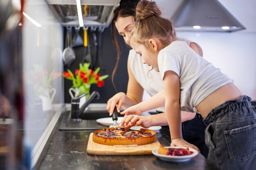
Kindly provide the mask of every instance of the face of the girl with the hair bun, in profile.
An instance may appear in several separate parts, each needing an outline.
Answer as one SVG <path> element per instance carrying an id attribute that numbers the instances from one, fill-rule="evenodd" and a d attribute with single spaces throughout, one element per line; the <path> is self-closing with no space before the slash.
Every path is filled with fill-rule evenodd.
<path id="1" fill-rule="evenodd" d="M 131 43 L 132 48 L 139 54 L 141 57 L 142 63 L 147 64 L 148 66 L 152 66 L 155 71 L 159 72 L 158 64 L 157 64 L 157 53 L 153 51 L 153 49 L 148 49 L 143 44 Z"/>

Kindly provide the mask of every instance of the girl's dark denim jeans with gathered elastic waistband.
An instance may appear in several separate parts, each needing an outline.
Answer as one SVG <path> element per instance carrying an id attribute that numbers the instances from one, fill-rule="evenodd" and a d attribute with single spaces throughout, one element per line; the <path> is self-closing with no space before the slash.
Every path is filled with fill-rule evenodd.
<path id="1" fill-rule="evenodd" d="M 231 100 L 204 119 L 208 160 L 222 170 L 256 169 L 256 110 L 251 98 Z"/>

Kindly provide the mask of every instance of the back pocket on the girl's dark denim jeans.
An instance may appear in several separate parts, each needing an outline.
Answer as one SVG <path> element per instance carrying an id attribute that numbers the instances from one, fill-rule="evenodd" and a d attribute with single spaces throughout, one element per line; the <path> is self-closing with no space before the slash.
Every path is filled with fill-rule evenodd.
<path id="1" fill-rule="evenodd" d="M 256 124 L 224 131 L 230 159 L 246 161 L 256 154 Z"/>

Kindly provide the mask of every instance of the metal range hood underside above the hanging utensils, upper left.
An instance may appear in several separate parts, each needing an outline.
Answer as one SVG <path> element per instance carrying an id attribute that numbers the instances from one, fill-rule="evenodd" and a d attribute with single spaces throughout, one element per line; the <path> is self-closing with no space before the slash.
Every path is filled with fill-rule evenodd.
<path id="1" fill-rule="evenodd" d="M 76 0 L 45 0 L 63 26 L 79 26 Z M 81 0 L 85 26 L 108 27 L 120 0 Z"/>

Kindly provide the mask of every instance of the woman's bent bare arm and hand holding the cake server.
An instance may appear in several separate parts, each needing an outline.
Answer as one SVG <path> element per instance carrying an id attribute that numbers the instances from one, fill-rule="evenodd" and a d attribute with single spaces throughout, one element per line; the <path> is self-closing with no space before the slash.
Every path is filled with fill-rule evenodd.
<path id="1" fill-rule="evenodd" d="M 127 63 L 127 69 L 128 69 L 128 76 L 129 76 L 127 92 L 126 94 L 124 92 L 119 92 L 108 100 L 108 105 L 106 107 L 106 110 L 110 113 L 110 116 L 114 111 L 115 105 L 117 105 L 117 110 L 120 111 L 121 107 L 124 107 L 126 109 L 142 101 L 144 89 L 141 87 L 141 85 L 139 85 L 134 75 L 132 74 L 132 71 L 130 69 L 129 59 Z"/>

